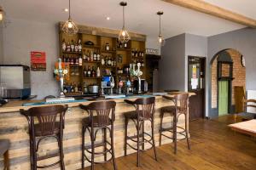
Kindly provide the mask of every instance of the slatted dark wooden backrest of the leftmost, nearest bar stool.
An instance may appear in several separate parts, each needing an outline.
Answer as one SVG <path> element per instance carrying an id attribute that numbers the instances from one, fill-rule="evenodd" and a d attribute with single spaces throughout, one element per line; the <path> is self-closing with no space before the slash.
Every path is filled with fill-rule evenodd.
<path id="1" fill-rule="evenodd" d="M 20 113 L 26 116 L 29 131 L 33 136 L 35 132 L 35 125 L 38 125 L 39 127 L 40 136 L 47 136 L 54 134 L 55 129 L 60 130 L 60 132 L 62 131 L 64 128 L 66 111 L 67 105 L 50 105 L 43 107 L 32 107 L 27 111 L 22 109 L 20 110 Z M 58 116 L 59 121 L 57 121 Z"/>

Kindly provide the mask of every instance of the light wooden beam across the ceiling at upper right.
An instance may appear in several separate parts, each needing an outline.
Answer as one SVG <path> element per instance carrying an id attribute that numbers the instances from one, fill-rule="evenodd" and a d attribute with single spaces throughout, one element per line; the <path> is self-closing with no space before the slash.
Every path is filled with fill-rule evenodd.
<path id="1" fill-rule="evenodd" d="M 225 8 L 220 8 L 211 3 L 206 3 L 201 0 L 162 0 L 166 3 L 172 3 L 184 8 L 193 9 L 195 11 L 210 14 L 212 16 L 222 18 L 224 20 L 230 20 L 238 24 L 256 28 L 256 20 L 253 20 L 242 14 L 237 14 L 233 11 L 227 10 Z M 231 2 L 230 2 L 231 3 Z"/>

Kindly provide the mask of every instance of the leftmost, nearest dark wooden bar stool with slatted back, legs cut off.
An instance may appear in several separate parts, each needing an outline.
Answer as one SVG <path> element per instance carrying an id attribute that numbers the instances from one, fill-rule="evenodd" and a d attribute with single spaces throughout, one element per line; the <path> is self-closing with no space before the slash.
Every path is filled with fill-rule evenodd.
<path id="1" fill-rule="evenodd" d="M 30 137 L 31 169 L 53 167 L 61 164 L 61 170 L 65 169 L 63 154 L 63 128 L 67 105 L 50 105 L 44 107 L 32 107 L 27 111 L 20 110 L 20 114 L 26 116 L 28 121 L 28 132 Z M 38 146 L 46 138 L 55 138 L 58 142 L 59 153 L 49 156 L 38 157 Z M 38 166 L 37 161 L 42 161 L 50 157 L 60 156 L 60 161 L 50 165 Z"/>

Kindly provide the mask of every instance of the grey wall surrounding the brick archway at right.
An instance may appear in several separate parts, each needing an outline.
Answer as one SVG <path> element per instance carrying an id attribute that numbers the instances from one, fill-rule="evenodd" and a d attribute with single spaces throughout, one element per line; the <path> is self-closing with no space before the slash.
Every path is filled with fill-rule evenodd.
<path id="1" fill-rule="evenodd" d="M 233 48 L 239 51 L 246 59 L 246 88 L 256 90 L 256 29 L 244 28 L 237 31 L 230 31 L 217 36 L 208 37 L 208 59 L 210 65 L 215 54 L 226 48 Z M 208 66 L 208 94 L 211 94 L 211 67 Z M 211 95 L 208 96 L 209 112 L 211 112 Z M 211 114 L 210 114 L 211 116 Z"/>

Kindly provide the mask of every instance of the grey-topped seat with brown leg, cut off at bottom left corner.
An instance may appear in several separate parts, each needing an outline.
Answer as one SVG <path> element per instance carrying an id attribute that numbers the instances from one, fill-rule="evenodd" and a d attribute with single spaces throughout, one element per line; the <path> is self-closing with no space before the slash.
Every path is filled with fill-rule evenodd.
<path id="1" fill-rule="evenodd" d="M 3 170 L 9 170 L 9 139 L 0 139 L 0 156 L 3 156 Z"/>

